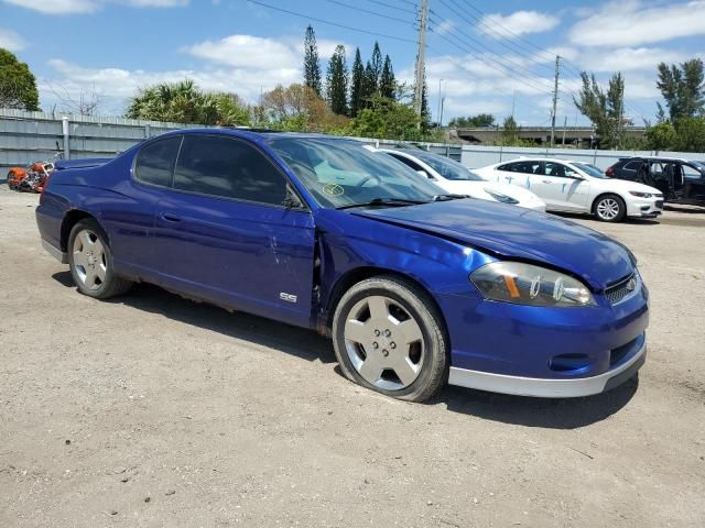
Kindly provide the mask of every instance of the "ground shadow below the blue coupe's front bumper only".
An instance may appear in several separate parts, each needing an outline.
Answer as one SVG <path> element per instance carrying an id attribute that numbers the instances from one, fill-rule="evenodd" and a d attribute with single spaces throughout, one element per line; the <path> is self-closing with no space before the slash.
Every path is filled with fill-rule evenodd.
<path id="1" fill-rule="evenodd" d="M 447 387 L 435 404 L 445 404 L 452 413 L 487 420 L 547 429 L 577 429 L 601 421 L 625 407 L 639 387 L 639 377 L 607 393 L 583 398 L 530 398 Z"/>

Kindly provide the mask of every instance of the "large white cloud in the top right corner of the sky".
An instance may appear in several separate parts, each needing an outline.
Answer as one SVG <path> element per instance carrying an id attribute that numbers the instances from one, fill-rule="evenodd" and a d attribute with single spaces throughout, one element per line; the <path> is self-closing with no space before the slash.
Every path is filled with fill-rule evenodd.
<path id="1" fill-rule="evenodd" d="M 584 46 L 638 46 L 705 35 L 705 0 L 665 6 L 641 0 L 609 2 L 576 23 L 570 38 Z"/>

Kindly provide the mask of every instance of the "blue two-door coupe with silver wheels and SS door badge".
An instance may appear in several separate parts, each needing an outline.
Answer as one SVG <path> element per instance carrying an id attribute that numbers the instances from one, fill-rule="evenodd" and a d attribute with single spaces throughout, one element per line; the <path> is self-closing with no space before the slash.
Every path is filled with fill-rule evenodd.
<path id="1" fill-rule="evenodd" d="M 646 358 L 648 292 L 623 245 L 444 195 L 350 140 L 171 132 L 57 170 L 36 219 L 85 295 L 148 282 L 316 329 L 348 378 L 400 399 L 446 382 L 586 396 Z"/>

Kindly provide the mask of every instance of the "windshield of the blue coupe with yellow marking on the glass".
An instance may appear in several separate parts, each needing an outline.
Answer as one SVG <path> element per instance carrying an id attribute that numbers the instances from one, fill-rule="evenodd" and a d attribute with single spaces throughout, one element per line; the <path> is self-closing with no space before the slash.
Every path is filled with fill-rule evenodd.
<path id="1" fill-rule="evenodd" d="M 278 138 L 269 145 L 323 207 L 372 200 L 425 202 L 444 193 L 392 156 L 356 141 Z"/>

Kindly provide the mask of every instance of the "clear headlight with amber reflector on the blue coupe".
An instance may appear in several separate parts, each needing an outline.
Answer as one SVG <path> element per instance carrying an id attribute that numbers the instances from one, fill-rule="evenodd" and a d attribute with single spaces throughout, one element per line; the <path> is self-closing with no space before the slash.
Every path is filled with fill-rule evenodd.
<path id="1" fill-rule="evenodd" d="M 529 306 L 594 306 L 595 299 L 579 280 L 553 270 L 521 262 L 495 262 L 470 275 L 485 297 Z"/>

